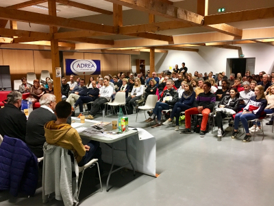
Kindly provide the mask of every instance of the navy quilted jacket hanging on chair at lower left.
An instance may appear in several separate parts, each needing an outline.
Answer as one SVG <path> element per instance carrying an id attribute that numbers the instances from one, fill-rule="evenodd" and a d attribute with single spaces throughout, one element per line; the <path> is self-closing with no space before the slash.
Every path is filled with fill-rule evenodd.
<path id="1" fill-rule="evenodd" d="M 38 182 L 37 157 L 21 139 L 5 136 L 0 146 L 0 190 L 33 196 Z"/>

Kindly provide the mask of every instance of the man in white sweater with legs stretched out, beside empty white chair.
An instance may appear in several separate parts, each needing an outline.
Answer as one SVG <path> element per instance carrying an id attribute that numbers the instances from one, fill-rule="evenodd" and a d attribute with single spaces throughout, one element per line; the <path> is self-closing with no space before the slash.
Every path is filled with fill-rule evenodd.
<path id="1" fill-rule="evenodd" d="M 113 94 L 113 88 L 110 86 L 110 81 L 108 78 L 103 79 L 103 87 L 101 87 L 99 95 L 95 102 L 93 102 L 90 115 L 86 117 L 87 119 L 93 119 L 94 116 L 99 111 L 101 105 L 105 104 L 105 102 L 110 102 L 110 98 Z"/>

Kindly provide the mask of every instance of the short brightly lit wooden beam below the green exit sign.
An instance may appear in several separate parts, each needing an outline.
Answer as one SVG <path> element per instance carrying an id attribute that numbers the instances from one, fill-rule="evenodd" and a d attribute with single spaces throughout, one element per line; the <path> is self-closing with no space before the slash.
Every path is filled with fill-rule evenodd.
<path id="1" fill-rule="evenodd" d="M 208 27 L 210 30 L 214 30 L 216 32 L 221 32 L 223 34 L 228 34 L 231 36 L 236 36 L 236 37 L 242 36 L 242 30 L 239 30 L 238 28 L 232 27 L 231 25 L 228 25 L 225 23 L 207 25 L 205 27 Z"/>

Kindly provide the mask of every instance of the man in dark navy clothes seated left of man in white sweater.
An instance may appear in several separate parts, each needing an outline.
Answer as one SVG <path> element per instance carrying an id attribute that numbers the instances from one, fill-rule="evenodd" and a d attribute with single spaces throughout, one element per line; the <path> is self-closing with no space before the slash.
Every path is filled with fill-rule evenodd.
<path id="1" fill-rule="evenodd" d="M 96 87 L 96 82 L 92 81 L 91 82 L 92 88 L 87 89 L 87 93 L 83 93 L 83 95 L 79 95 L 78 100 L 76 100 L 75 104 L 73 105 L 73 108 L 75 108 L 79 105 L 79 111 L 80 114 L 78 117 L 81 117 L 83 115 L 83 104 L 84 103 L 89 103 L 89 102 L 94 102 L 99 95 L 99 89 Z M 91 105 L 88 104 L 88 111 L 90 111 Z"/>

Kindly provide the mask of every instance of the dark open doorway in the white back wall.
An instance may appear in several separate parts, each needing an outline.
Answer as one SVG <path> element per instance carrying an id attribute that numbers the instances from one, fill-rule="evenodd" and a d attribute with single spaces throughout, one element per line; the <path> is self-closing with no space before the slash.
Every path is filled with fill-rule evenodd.
<path id="1" fill-rule="evenodd" d="M 250 71 L 250 74 L 255 71 L 255 58 L 227 58 L 227 74 L 241 73 L 245 76 L 245 71 Z"/>

